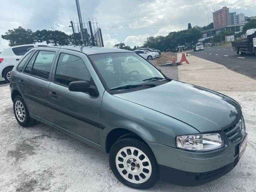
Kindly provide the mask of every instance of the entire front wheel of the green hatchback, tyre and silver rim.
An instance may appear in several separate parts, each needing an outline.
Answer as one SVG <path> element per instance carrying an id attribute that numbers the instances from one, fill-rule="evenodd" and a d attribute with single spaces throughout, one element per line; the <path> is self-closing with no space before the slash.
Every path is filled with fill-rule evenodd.
<path id="1" fill-rule="evenodd" d="M 159 169 L 151 149 L 133 138 L 118 140 L 112 146 L 109 163 L 116 178 L 123 184 L 148 189 L 159 179 Z"/>

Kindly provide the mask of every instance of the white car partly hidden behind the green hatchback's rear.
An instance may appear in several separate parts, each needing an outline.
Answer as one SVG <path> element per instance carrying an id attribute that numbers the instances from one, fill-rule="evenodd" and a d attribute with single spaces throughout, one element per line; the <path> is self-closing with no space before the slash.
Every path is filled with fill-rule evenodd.
<path id="1" fill-rule="evenodd" d="M 10 75 L 14 65 L 33 47 L 45 47 L 47 44 L 27 44 L 9 47 L 0 54 L 0 80 L 10 82 Z M 3 79 L 4 78 L 4 79 Z"/>

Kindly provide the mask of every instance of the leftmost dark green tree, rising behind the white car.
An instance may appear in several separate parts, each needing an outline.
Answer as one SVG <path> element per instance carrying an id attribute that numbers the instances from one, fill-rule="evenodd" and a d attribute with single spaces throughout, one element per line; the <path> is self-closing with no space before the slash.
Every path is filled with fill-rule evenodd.
<path id="1" fill-rule="evenodd" d="M 16 29 L 8 30 L 1 36 L 9 41 L 9 46 L 24 45 L 34 43 L 34 34 L 31 29 L 24 29 L 19 26 Z"/>

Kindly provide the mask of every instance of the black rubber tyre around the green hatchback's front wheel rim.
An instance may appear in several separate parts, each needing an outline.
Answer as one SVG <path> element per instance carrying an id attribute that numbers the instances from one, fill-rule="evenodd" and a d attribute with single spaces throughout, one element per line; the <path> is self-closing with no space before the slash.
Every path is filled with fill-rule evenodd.
<path id="1" fill-rule="evenodd" d="M 124 176 L 122 176 L 120 174 L 120 172 L 118 171 L 117 165 L 116 165 L 116 156 L 117 156 L 118 152 L 120 152 L 120 150 L 124 147 L 134 147 L 134 148 L 141 150 L 144 154 L 146 154 L 147 158 L 149 159 L 149 163 L 151 164 L 151 175 L 147 178 L 147 180 L 145 182 L 143 182 L 143 183 L 130 182 L 127 179 L 125 179 Z M 129 158 L 128 155 L 127 155 L 127 157 Z M 124 158 L 123 161 L 125 162 L 128 158 L 126 158 L 126 159 Z M 114 173 L 114 175 L 116 176 L 116 178 L 123 184 L 127 185 L 128 187 L 132 187 L 132 188 L 136 188 L 136 189 L 148 189 L 150 187 L 153 187 L 159 179 L 158 164 L 157 164 L 157 161 L 156 161 L 156 158 L 155 158 L 153 152 L 144 142 L 137 140 L 137 139 L 123 138 L 123 139 L 116 141 L 114 143 L 114 145 L 111 147 L 111 150 L 109 153 L 109 164 L 110 164 L 111 170 Z M 118 166 L 119 165 L 120 164 L 118 164 Z M 126 165 L 126 163 L 125 163 L 125 165 Z M 139 166 L 140 169 L 142 169 L 143 166 Z M 124 169 L 128 170 L 126 167 L 124 167 Z M 142 170 L 144 170 L 144 168 Z M 131 173 L 131 172 L 127 172 L 124 175 L 127 175 L 127 174 L 130 175 L 129 173 Z M 132 174 L 134 174 L 134 173 L 132 173 Z M 134 177 L 136 178 L 136 174 L 134 175 Z M 137 175 L 137 177 L 138 177 L 138 175 Z M 143 180 L 142 178 L 140 178 L 140 179 Z"/>

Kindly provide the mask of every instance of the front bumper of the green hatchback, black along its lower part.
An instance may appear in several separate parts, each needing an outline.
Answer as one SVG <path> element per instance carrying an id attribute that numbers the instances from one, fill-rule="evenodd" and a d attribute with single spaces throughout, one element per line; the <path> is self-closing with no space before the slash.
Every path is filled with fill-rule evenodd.
<path id="1" fill-rule="evenodd" d="M 236 143 L 239 146 L 243 139 Z M 173 184 L 197 186 L 213 181 L 231 171 L 239 161 L 232 144 L 205 152 L 191 152 L 161 144 L 149 143 L 161 177 Z"/>

